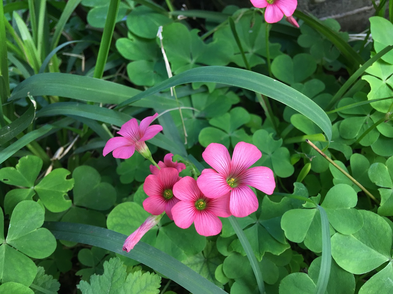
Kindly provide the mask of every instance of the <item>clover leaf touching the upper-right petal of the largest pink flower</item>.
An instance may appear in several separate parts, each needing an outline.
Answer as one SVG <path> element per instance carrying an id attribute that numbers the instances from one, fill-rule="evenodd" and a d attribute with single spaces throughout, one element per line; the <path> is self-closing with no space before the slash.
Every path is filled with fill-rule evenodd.
<path id="1" fill-rule="evenodd" d="M 257 130 L 252 136 L 252 142 L 262 152 L 262 157 L 255 165 L 270 167 L 280 178 L 287 178 L 294 173 L 290 163 L 290 154 L 286 147 L 282 147 L 283 139 L 274 140 L 273 134 L 266 130 Z"/>

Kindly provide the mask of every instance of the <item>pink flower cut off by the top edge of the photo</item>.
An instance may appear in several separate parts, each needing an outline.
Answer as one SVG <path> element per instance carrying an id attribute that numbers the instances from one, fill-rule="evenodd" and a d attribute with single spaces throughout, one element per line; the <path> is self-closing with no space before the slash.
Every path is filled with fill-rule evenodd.
<path id="1" fill-rule="evenodd" d="M 257 8 L 266 7 L 265 20 L 272 24 L 279 22 L 283 16 L 291 16 L 298 6 L 297 0 L 251 0 Z"/>

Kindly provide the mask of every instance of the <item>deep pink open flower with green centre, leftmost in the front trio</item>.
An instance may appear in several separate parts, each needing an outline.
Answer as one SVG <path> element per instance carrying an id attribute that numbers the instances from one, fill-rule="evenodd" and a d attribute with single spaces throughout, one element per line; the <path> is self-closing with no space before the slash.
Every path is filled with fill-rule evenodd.
<path id="1" fill-rule="evenodd" d="M 173 185 L 180 180 L 179 172 L 173 167 L 164 167 L 147 176 L 143 191 L 149 196 L 143 201 L 145 211 L 158 215 L 164 211 L 173 220 L 171 209 L 179 200 L 173 196 Z"/>

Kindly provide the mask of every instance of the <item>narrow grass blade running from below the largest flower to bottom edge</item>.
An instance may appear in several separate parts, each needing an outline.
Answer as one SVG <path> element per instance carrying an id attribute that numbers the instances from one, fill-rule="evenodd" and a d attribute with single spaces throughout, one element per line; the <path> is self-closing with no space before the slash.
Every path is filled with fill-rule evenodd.
<path id="1" fill-rule="evenodd" d="M 265 292 L 265 285 L 263 283 L 262 272 L 261 272 L 261 269 L 259 267 L 258 261 L 255 258 L 255 254 L 252 251 L 250 242 L 248 241 L 246 235 L 244 234 L 243 229 L 240 227 L 239 222 L 237 221 L 237 219 L 234 216 L 230 216 L 228 219 L 229 219 L 233 229 L 235 230 L 237 238 L 239 238 L 239 241 L 240 241 L 244 251 L 246 252 L 248 260 L 250 261 L 252 270 L 253 270 L 254 275 L 255 275 L 255 279 L 257 280 L 259 293 L 260 294 L 264 294 L 264 292 Z"/>

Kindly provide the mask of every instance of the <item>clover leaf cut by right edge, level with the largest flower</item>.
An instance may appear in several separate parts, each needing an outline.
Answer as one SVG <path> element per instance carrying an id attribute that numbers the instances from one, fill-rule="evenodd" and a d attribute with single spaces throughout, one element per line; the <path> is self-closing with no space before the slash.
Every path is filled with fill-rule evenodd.
<path id="1" fill-rule="evenodd" d="M 381 216 L 393 215 L 393 156 L 386 163 L 373 163 L 368 169 L 370 180 L 377 186 L 381 195 L 381 205 L 378 214 Z"/>

